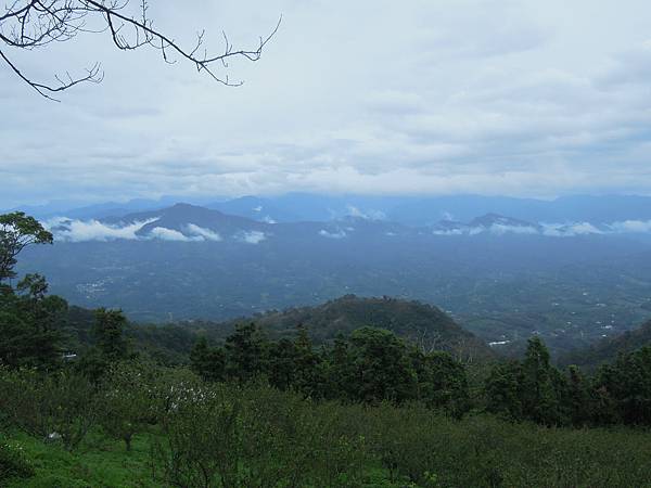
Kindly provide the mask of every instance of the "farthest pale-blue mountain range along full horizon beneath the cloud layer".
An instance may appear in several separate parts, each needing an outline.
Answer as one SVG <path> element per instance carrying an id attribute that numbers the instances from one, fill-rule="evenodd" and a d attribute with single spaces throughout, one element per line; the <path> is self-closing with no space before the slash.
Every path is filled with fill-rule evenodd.
<path id="1" fill-rule="evenodd" d="M 562 196 L 544 201 L 502 196 L 368 196 L 289 193 L 279 196 L 240 198 L 132 200 L 79 205 L 53 202 L 49 205 L 23 206 L 20 209 L 38 218 L 65 216 L 73 219 L 102 219 L 169 207 L 186 201 L 228 215 L 266 222 L 330 221 L 345 217 L 388 220 L 407 226 L 434 226 L 441 220 L 469 222 L 477 216 L 496 214 L 529 222 L 623 222 L 651 220 L 651 197 L 635 195 Z"/>

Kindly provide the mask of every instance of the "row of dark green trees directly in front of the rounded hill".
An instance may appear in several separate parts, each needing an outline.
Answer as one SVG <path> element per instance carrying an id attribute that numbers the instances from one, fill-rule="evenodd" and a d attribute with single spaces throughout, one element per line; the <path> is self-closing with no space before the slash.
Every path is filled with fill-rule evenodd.
<path id="1" fill-rule="evenodd" d="M 314 399 L 370 404 L 418 399 L 458 416 L 470 409 L 462 363 L 446 352 L 418 350 L 382 329 L 362 328 L 315 350 L 305 328 L 293 342 L 272 342 L 255 324 L 240 325 L 224 348 L 201 338 L 191 364 L 206 381 L 265 377 L 271 386 Z"/>

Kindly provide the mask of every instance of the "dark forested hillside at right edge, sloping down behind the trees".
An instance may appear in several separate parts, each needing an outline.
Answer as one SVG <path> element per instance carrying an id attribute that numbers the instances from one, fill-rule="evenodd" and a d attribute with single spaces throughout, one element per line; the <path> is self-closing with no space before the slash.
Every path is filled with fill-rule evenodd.
<path id="1" fill-rule="evenodd" d="M 576 364 L 585 370 L 595 370 L 599 364 L 614 361 L 621 352 L 633 352 L 651 345 L 651 321 L 639 329 L 605 337 L 586 349 L 577 349 L 559 358 L 561 365 Z"/>

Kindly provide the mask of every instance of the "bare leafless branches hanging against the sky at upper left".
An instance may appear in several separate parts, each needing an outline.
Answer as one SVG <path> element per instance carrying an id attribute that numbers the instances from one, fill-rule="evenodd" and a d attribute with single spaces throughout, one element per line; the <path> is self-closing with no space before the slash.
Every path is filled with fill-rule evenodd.
<path id="1" fill-rule="evenodd" d="M 197 34 L 193 46 L 183 48 L 174 38 L 154 27 L 149 16 L 145 0 L 13 0 L 0 10 L 0 60 L 34 90 L 51 100 L 56 92 L 67 90 L 81 82 L 100 82 L 103 72 L 100 63 L 94 63 L 84 75 L 74 77 L 66 72 L 65 77 L 55 77 L 54 84 L 34 80 L 13 60 L 10 51 L 33 51 L 52 42 L 65 42 L 80 34 L 106 33 L 113 44 L 122 51 L 132 51 L 143 47 L 157 50 L 166 63 L 177 60 L 193 64 L 199 72 L 208 74 L 216 81 L 238 86 L 228 75 L 219 75 L 217 66 L 228 67 L 231 57 L 248 61 L 260 59 L 263 49 L 273 37 L 276 28 L 252 49 L 234 49 L 224 35 L 225 47 L 219 53 L 208 53 L 204 48 L 205 31 Z M 3 49 L 5 48 L 5 49 Z"/>

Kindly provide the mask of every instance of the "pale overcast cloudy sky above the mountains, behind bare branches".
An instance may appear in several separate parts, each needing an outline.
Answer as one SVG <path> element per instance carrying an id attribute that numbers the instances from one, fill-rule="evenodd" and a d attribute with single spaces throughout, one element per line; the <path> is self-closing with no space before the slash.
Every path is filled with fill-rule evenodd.
<path id="1" fill-rule="evenodd" d="M 651 194 L 651 3 L 642 0 L 150 1 L 192 46 L 255 47 L 216 84 L 85 34 L 14 53 L 101 85 L 61 103 L 0 65 L 0 208 L 290 191 Z"/>

